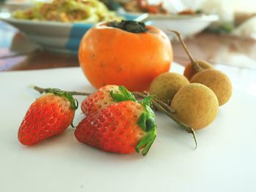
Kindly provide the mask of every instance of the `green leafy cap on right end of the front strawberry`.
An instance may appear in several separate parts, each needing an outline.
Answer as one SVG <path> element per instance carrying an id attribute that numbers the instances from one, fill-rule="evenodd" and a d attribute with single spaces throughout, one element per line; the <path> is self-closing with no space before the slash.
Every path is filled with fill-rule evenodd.
<path id="1" fill-rule="evenodd" d="M 146 135 L 140 139 L 138 144 L 135 147 L 135 150 L 142 155 L 146 155 L 148 150 L 150 149 L 151 145 L 154 142 L 154 139 L 157 137 L 157 123 L 156 117 L 154 115 L 153 110 L 151 110 L 150 103 L 151 103 L 152 96 L 148 96 L 142 101 L 140 104 L 145 107 L 145 111 L 140 115 L 138 118 L 138 125 L 143 131 L 146 132 Z"/>

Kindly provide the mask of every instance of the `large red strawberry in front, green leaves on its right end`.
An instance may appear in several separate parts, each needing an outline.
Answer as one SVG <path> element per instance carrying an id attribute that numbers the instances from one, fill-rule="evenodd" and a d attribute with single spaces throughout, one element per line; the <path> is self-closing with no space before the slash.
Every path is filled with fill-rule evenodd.
<path id="1" fill-rule="evenodd" d="M 121 101 L 84 118 L 75 130 L 79 142 L 113 153 L 146 155 L 157 136 L 154 112 L 142 104 Z"/>

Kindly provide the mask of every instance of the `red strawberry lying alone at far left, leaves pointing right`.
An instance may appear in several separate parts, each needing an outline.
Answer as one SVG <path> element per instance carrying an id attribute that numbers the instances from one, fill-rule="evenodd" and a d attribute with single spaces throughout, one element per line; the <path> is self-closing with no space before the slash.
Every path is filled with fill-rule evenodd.
<path id="1" fill-rule="evenodd" d="M 61 134 L 72 123 L 78 101 L 70 93 L 49 89 L 29 107 L 18 130 L 23 145 L 34 145 Z"/>

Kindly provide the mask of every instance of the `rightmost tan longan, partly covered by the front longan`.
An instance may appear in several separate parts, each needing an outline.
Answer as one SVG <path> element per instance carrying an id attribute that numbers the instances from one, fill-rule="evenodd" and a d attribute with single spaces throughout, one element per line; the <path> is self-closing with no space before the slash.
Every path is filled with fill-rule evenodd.
<path id="1" fill-rule="evenodd" d="M 216 70 L 206 69 L 195 74 L 191 82 L 201 83 L 211 88 L 217 96 L 219 106 L 225 104 L 232 95 L 232 83 L 227 74 Z"/>

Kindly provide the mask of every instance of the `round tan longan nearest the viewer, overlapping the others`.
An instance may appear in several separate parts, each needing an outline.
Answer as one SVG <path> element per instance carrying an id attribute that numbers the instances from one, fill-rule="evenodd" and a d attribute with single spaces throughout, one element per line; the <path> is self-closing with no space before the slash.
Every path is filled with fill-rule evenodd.
<path id="1" fill-rule="evenodd" d="M 173 117 L 194 130 L 205 128 L 217 117 L 219 103 L 210 88 L 200 83 L 190 83 L 181 88 L 171 101 Z"/>

